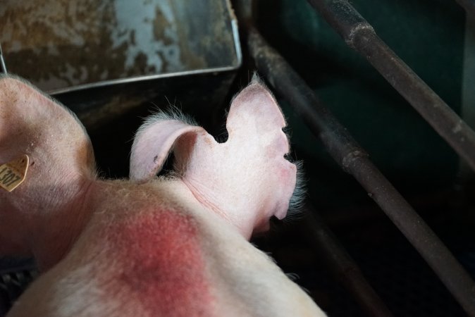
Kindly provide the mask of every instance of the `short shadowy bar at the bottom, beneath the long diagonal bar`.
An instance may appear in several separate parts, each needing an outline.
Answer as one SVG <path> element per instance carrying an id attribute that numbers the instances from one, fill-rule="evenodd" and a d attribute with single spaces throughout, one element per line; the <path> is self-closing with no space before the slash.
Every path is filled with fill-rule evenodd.
<path id="1" fill-rule="evenodd" d="M 367 316 L 393 316 L 359 270 L 357 263 L 338 242 L 333 232 L 313 208 L 307 208 L 305 224 L 321 258 L 338 281 L 353 295 Z"/>

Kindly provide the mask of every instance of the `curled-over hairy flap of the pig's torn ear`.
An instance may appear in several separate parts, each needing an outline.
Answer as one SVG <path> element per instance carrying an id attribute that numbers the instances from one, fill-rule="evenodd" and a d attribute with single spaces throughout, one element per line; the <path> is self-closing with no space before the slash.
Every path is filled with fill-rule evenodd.
<path id="1" fill-rule="evenodd" d="M 130 179 L 147 182 L 156 177 L 173 147 L 184 135 L 204 132 L 179 111 L 149 116 L 135 135 L 130 153 Z"/>

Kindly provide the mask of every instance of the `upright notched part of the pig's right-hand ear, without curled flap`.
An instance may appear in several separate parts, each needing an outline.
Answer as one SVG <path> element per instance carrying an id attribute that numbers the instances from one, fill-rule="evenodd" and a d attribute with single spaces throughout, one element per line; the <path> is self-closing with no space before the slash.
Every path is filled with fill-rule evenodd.
<path id="1" fill-rule="evenodd" d="M 231 103 L 228 140 L 218 144 L 204 134 L 188 138 L 176 147 L 175 159 L 192 188 L 219 197 L 215 204 L 221 210 L 240 209 L 236 218 L 257 213 L 251 231 L 265 230 L 271 216 L 286 216 L 295 189 L 297 167 L 285 159 L 290 150 L 285 125 L 273 95 L 254 77 Z"/>

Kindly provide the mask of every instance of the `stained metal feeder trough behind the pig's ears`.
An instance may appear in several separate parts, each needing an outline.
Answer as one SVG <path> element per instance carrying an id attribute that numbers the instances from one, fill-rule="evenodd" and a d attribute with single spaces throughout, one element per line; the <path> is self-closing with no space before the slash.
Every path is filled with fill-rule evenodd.
<path id="1" fill-rule="evenodd" d="M 78 115 L 109 176 L 127 175 L 151 108 L 176 104 L 216 125 L 241 65 L 227 0 L 4 0 L 0 43 L 8 73 Z"/>

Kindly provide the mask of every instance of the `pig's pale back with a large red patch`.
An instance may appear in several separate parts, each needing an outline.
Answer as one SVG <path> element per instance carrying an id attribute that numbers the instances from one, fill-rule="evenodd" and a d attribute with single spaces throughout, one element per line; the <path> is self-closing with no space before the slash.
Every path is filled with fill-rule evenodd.
<path id="1" fill-rule="evenodd" d="M 70 253 L 8 316 L 321 314 L 268 256 L 190 197 L 173 192 L 128 211 L 121 206 L 134 203 L 123 197 L 99 203 Z"/>

